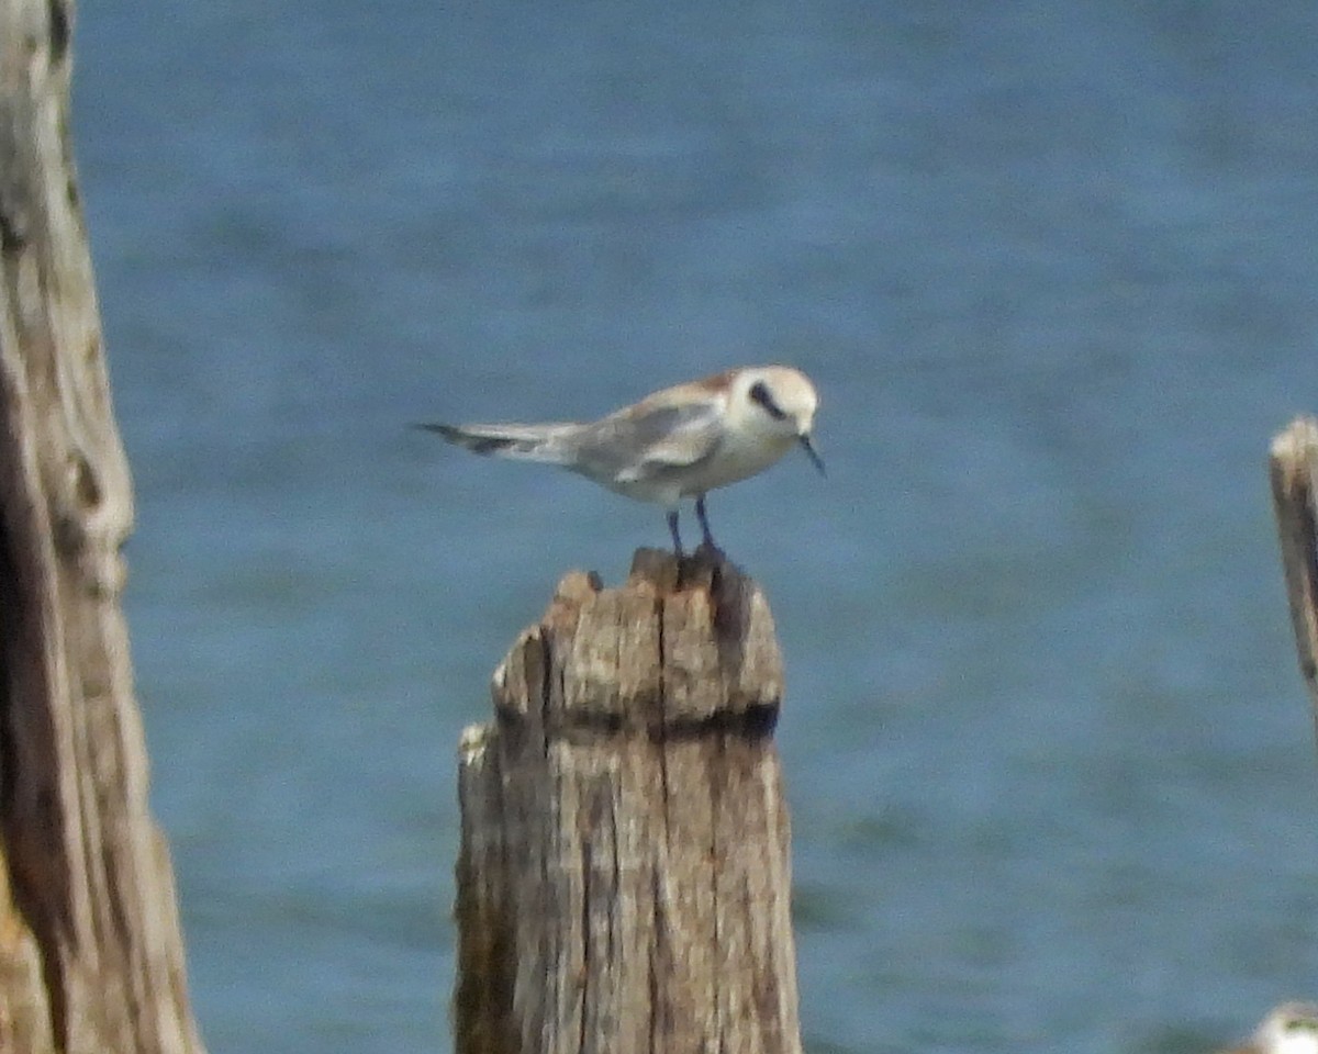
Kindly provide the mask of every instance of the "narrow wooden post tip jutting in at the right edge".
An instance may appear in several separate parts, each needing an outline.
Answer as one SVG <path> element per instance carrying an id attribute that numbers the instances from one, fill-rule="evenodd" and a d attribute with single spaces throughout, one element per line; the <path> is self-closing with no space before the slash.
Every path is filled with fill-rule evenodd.
<path id="1" fill-rule="evenodd" d="M 1318 725 L 1318 420 L 1297 418 L 1277 433 L 1271 474 L 1300 672 Z"/>

